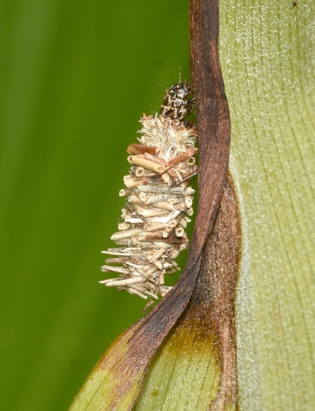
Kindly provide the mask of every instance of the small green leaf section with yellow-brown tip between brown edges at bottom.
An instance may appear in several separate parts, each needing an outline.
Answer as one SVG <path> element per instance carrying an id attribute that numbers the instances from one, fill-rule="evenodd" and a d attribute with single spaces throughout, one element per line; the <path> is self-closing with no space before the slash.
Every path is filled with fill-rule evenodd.
<path id="1" fill-rule="evenodd" d="M 220 371 L 214 332 L 186 317 L 157 352 L 134 410 L 206 410 Z"/>

